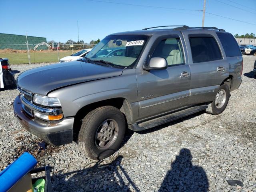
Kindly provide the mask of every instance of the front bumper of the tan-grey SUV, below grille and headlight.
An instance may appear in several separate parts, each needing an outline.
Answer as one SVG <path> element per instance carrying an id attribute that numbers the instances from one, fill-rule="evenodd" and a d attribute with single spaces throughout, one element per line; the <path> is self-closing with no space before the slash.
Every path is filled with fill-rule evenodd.
<path id="1" fill-rule="evenodd" d="M 72 143 L 74 118 L 64 118 L 59 122 L 46 122 L 30 117 L 22 109 L 20 96 L 13 103 L 14 115 L 22 126 L 51 145 L 64 145 Z"/>

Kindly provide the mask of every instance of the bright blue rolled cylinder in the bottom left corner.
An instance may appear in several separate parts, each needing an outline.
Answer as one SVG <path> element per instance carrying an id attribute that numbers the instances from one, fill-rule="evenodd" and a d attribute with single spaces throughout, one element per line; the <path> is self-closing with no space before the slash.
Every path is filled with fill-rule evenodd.
<path id="1" fill-rule="evenodd" d="M 0 172 L 0 192 L 8 191 L 24 175 L 30 172 L 36 164 L 36 159 L 29 153 L 24 152 L 18 159 Z"/>

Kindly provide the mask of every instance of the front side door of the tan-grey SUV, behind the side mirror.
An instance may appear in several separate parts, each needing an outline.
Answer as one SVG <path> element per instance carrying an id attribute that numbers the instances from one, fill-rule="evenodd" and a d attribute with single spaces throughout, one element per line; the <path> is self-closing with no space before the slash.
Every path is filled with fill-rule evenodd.
<path id="1" fill-rule="evenodd" d="M 138 80 L 139 119 L 158 116 L 187 105 L 190 95 L 190 68 L 186 64 L 184 41 L 178 35 L 156 39 L 150 58 L 166 59 L 167 69 L 136 70 Z"/>

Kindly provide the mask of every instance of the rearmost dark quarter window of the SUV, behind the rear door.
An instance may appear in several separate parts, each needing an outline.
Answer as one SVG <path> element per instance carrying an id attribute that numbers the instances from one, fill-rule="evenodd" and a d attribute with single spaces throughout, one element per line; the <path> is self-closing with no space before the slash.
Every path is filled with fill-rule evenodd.
<path id="1" fill-rule="evenodd" d="M 235 38 L 228 33 L 217 33 L 220 42 L 226 53 L 226 57 L 241 56 L 238 44 Z"/>

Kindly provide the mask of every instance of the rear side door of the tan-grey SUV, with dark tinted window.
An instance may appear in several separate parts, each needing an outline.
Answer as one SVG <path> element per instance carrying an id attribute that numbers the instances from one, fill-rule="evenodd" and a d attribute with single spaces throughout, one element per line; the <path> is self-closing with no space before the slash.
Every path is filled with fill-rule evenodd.
<path id="1" fill-rule="evenodd" d="M 182 31 L 191 71 L 190 105 L 214 100 L 220 84 L 229 76 L 228 61 L 216 32 L 203 31 Z"/>

